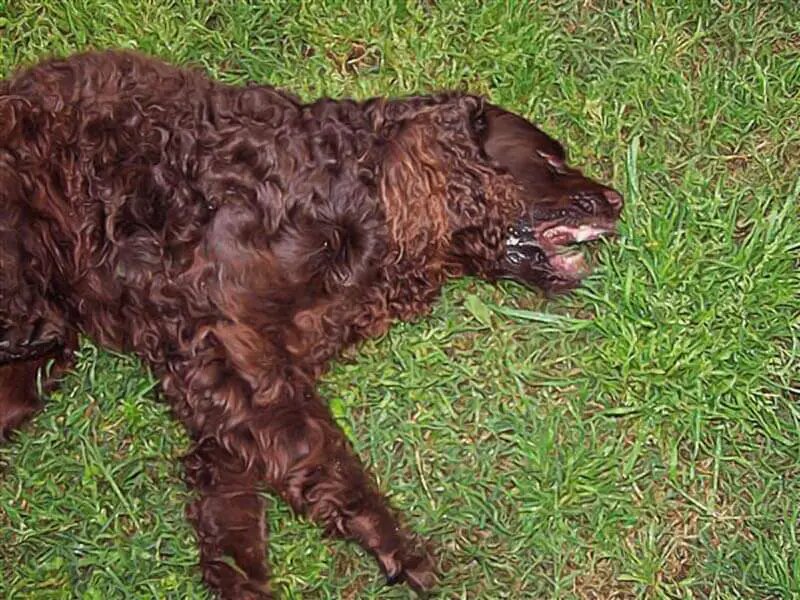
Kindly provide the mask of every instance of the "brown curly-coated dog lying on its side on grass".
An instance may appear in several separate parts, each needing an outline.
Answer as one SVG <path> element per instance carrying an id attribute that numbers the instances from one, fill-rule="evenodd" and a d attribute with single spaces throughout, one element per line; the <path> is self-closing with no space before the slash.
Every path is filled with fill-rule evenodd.
<path id="1" fill-rule="evenodd" d="M 264 486 L 428 589 L 316 380 L 448 277 L 576 284 L 563 247 L 621 206 L 470 95 L 303 104 L 131 53 L 44 62 L 0 82 L 0 434 L 87 335 L 141 357 L 188 429 L 187 512 L 221 596 L 270 597 Z"/>

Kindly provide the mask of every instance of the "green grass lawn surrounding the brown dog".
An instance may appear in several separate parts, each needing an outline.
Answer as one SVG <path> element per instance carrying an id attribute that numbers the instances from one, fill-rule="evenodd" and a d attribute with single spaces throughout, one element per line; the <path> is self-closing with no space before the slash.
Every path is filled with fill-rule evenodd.
<path id="1" fill-rule="evenodd" d="M 587 285 L 455 282 L 323 386 L 434 542 L 436 597 L 800 597 L 800 11 L 532 4 L 0 1 L 0 74 L 135 47 L 309 99 L 466 88 L 538 121 L 626 193 Z M 185 435 L 135 361 L 82 352 L 0 449 L 0 597 L 205 597 Z M 269 521 L 284 597 L 410 596 L 278 503 Z"/>

